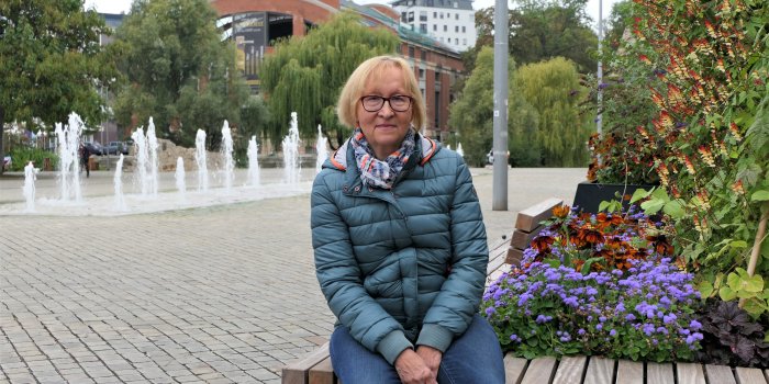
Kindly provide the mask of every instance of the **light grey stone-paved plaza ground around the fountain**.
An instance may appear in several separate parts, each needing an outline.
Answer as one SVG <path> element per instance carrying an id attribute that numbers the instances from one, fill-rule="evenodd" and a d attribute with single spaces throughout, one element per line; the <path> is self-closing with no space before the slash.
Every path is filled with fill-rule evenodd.
<path id="1" fill-rule="evenodd" d="M 586 170 L 509 170 L 508 211 L 491 211 L 492 170 L 472 173 L 493 244 L 517 211 L 570 203 Z M 0 206 L 23 202 L 22 183 L 0 178 Z M 37 194 L 55 184 L 41 174 Z M 85 200 L 109 195 L 112 174 L 82 184 Z M 120 216 L 0 215 L 0 383 L 279 383 L 334 324 L 309 207 L 302 193 Z"/>

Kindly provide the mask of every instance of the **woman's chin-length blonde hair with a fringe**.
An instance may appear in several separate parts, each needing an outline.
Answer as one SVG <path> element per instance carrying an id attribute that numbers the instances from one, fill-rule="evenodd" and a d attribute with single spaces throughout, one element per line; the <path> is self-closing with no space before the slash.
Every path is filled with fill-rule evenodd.
<path id="1" fill-rule="evenodd" d="M 425 114 L 424 99 L 414 77 L 414 71 L 406 60 L 398 56 L 377 56 L 361 63 L 349 76 L 345 87 L 339 94 L 336 112 L 342 124 L 355 127 L 358 117 L 356 115 L 357 104 L 366 89 L 366 82 L 370 78 L 376 78 L 384 69 L 395 67 L 403 72 L 403 84 L 405 91 L 414 99 L 411 103 L 411 124 L 414 128 L 422 129 L 427 121 Z"/>

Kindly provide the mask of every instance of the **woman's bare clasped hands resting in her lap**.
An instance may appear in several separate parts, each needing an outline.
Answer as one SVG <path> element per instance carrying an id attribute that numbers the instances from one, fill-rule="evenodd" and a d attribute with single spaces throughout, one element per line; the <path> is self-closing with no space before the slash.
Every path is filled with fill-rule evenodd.
<path id="1" fill-rule="evenodd" d="M 395 371 L 403 384 L 437 384 L 443 353 L 432 347 L 404 349 L 395 359 Z"/>

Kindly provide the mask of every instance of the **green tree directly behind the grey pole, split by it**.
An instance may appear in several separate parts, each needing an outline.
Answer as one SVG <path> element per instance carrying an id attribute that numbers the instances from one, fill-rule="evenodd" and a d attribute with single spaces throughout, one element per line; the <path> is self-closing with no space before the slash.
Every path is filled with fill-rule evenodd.
<path id="1" fill-rule="evenodd" d="M 486 162 L 486 154 L 493 142 L 493 67 L 494 53 L 491 47 L 482 47 L 476 66 L 465 82 L 465 88 L 450 106 L 448 123 L 457 127 L 465 150 L 465 158 L 475 166 Z M 536 132 L 536 111 L 523 100 L 513 87 L 515 61 L 508 60 L 509 106 L 508 133 L 510 160 L 513 166 L 536 166 L 539 149 L 532 138 Z"/>

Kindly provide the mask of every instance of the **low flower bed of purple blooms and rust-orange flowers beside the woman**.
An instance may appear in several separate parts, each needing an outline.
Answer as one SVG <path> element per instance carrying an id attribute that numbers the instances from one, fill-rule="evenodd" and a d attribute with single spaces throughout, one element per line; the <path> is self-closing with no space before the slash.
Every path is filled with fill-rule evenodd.
<path id="1" fill-rule="evenodd" d="M 577 215 L 561 207 L 503 273 L 482 310 L 502 348 L 527 359 L 602 354 L 691 360 L 702 339 L 692 314 L 692 274 L 667 255 L 658 225 L 643 214 Z"/>

